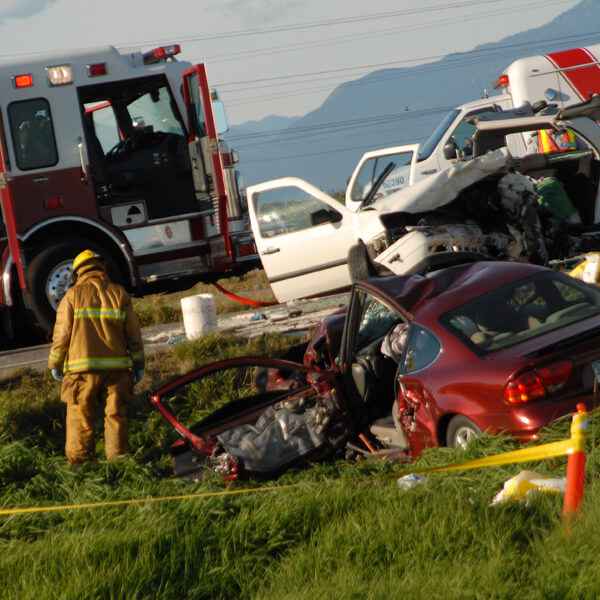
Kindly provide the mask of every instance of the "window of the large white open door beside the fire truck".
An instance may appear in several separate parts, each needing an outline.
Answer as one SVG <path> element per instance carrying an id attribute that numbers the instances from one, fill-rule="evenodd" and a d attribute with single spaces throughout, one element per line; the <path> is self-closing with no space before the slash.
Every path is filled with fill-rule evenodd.
<path id="1" fill-rule="evenodd" d="M 319 223 L 317 216 L 324 211 L 335 213 L 337 220 L 341 218 L 341 214 L 328 204 L 294 186 L 260 192 L 255 195 L 255 203 L 260 235 L 263 238 L 313 227 Z"/>

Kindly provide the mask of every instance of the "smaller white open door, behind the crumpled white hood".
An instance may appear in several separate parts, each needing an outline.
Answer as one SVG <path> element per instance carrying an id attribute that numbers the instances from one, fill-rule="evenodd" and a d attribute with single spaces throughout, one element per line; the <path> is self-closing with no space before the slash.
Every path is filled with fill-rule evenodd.
<path id="1" fill-rule="evenodd" d="M 394 167 L 381 184 L 375 199 L 412 185 L 418 150 L 419 144 L 410 144 L 363 154 L 346 189 L 346 207 L 357 212 L 371 186 L 390 163 L 393 163 Z"/>

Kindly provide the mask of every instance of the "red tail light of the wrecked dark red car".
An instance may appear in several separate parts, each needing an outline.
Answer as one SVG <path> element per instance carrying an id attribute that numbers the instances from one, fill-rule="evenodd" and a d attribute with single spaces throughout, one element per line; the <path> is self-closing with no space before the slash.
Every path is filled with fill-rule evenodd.
<path id="1" fill-rule="evenodd" d="M 572 371 L 573 363 L 570 360 L 526 371 L 506 384 L 504 401 L 507 404 L 525 404 L 545 398 L 547 393 L 561 389 L 571 377 Z"/>

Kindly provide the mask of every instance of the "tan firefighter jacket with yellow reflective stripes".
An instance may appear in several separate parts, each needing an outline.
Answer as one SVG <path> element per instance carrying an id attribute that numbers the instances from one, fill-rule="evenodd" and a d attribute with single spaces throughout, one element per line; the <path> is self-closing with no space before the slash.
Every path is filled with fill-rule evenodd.
<path id="1" fill-rule="evenodd" d="M 82 267 L 58 307 L 48 368 L 83 373 L 143 367 L 140 324 L 129 295 L 97 265 Z"/>

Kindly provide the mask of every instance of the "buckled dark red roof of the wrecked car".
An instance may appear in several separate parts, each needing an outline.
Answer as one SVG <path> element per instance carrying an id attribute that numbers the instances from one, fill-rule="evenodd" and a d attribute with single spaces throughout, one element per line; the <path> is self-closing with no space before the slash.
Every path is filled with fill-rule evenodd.
<path id="1" fill-rule="evenodd" d="M 548 271 L 529 263 L 479 261 L 423 275 L 369 280 L 419 321 L 428 321 L 511 281 Z"/>

